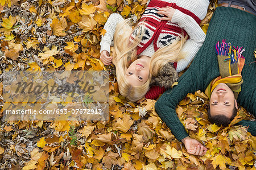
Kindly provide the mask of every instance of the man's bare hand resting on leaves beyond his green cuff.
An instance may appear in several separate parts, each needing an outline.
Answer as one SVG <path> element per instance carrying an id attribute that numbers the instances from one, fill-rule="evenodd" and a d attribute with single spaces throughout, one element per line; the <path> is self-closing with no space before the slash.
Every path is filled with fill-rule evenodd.
<path id="1" fill-rule="evenodd" d="M 203 156 L 207 152 L 207 148 L 196 139 L 185 137 L 181 142 L 184 143 L 188 154 Z"/>

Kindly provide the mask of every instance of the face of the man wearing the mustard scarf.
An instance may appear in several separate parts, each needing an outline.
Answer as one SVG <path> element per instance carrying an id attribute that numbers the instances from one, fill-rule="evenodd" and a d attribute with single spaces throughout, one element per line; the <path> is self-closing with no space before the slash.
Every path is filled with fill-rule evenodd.
<path id="1" fill-rule="evenodd" d="M 212 117 L 219 114 L 225 114 L 226 117 L 231 118 L 234 105 L 237 108 L 237 101 L 234 98 L 233 91 L 224 83 L 218 84 L 213 90 L 209 104 L 210 115 Z"/>

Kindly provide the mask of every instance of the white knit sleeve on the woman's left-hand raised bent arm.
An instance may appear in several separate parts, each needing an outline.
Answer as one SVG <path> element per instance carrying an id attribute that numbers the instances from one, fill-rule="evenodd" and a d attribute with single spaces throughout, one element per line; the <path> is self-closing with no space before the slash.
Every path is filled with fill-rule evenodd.
<path id="1" fill-rule="evenodd" d="M 106 50 L 110 53 L 110 45 L 112 44 L 112 40 L 115 33 L 115 27 L 117 27 L 117 23 L 122 22 L 124 19 L 119 14 L 111 14 L 105 23 L 104 30 L 106 33 L 101 37 L 101 51 Z"/>

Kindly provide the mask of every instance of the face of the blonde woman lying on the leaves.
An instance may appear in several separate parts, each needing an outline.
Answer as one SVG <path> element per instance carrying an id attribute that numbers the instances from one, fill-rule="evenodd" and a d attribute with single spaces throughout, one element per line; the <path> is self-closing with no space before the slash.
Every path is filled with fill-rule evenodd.
<path id="1" fill-rule="evenodd" d="M 141 86 L 149 76 L 149 61 L 144 57 L 137 59 L 127 68 L 125 78 L 130 82 L 131 86 Z"/>

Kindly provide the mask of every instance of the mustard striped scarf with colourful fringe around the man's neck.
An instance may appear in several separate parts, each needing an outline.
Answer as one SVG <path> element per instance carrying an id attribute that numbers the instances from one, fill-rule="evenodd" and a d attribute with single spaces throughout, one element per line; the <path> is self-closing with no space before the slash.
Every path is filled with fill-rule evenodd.
<path id="1" fill-rule="evenodd" d="M 237 99 L 238 93 L 241 92 L 242 69 L 245 65 L 245 57 L 242 56 L 242 52 L 245 49 L 236 48 L 231 43 L 226 43 L 226 40 L 222 40 L 222 43 L 216 44 L 216 53 L 218 59 L 218 67 L 220 69 L 220 76 L 210 82 L 205 90 L 205 94 L 210 98 L 212 91 L 220 83 L 225 83 L 234 92 L 234 97 Z M 233 54 L 232 54 L 233 51 Z"/>

